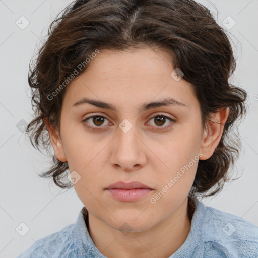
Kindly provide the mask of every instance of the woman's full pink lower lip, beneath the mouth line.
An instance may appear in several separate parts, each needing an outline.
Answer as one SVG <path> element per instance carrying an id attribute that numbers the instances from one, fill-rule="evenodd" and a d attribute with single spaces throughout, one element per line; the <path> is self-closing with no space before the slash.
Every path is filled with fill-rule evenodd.
<path id="1" fill-rule="evenodd" d="M 135 202 L 140 200 L 142 197 L 147 196 L 152 189 L 106 189 L 110 195 L 121 202 Z"/>

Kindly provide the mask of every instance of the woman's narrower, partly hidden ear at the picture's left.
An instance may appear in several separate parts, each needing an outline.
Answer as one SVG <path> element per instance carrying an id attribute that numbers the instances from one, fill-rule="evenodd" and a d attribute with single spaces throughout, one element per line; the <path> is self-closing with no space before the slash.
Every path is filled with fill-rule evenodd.
<path id="1" fill-rule="evenodd" d="M 51 140 L 51 144 L 53 146 L 54 149 L 54 154 L 55 157 L 61 161 L 61 162 L 66 162 L 67 161 L 67 157 L 66 154 L 64 153 L 63 150 L 63 144 L 62 144 L 62 140 L 59 136 L 58 130 L 53 128 L 47 119 L 43 119 L 45 126 L 47 128 L 50 140 Z"/>

